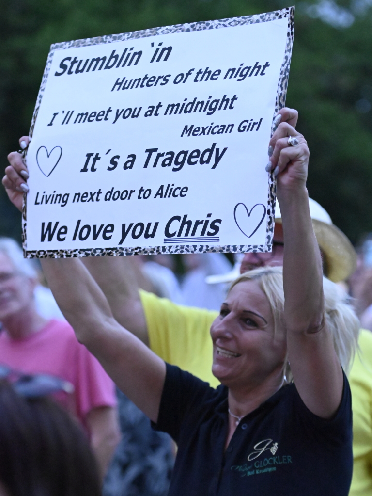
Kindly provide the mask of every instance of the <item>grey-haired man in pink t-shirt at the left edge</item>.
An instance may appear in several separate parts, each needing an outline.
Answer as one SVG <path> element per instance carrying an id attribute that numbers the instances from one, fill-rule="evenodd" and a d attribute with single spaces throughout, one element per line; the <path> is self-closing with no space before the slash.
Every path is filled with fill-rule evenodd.
<path id="1" fill-rule="evenodd" d="M 47 373 L 74 386 L 57 400 L 88 433 L 104 477 L 120 439 L 114 384 L 67 322 L 48 321 L 37 313 L 35 284 L 36 272 L 22 250 L 0 238 L 0 365 Z"/>

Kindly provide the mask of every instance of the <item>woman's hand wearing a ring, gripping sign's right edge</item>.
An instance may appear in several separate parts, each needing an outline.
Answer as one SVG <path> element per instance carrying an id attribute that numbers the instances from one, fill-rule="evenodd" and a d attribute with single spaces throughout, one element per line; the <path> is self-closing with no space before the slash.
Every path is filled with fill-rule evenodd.
<path id="1" fill-rule="evenodd" d="M 279 118 L 280 116 L 280 118 Z M 309 148 L 306 139 L 296 131 L 298 112 L 287 107 L 281 109 L 276 116 L 278 124 L 269 143 L 271 157 L 267 170 L 273 170 L 278 177 L 277 188 L 280 192 L 285 189 L 302 188 L 306 185 L 309 164 Z M 295 137 L 298 144 L 291 146 L 289 137 Z"/>

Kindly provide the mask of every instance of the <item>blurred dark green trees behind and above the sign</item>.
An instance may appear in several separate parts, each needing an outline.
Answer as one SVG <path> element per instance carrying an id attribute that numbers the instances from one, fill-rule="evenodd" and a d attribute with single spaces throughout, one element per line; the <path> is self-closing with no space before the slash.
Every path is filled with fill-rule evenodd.
<path id="1" fill-rule="evenodd" d="M 0 174 L 28 134 L 51 43 L 267 12 L 290 0 L 0 0 Z M 355 243 L 372 231 L 372 0 L 296 2 L 287 105 L 311 150 L 310 195 Z M 0 235 L 20 239 L 0 189 Z"/>

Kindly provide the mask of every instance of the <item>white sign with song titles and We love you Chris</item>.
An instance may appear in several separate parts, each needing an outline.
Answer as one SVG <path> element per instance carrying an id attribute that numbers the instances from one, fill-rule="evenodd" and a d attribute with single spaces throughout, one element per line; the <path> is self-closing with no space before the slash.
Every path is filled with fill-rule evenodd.
<path id="1" fill-rule="evenodd" d="M 26 156 L 26 256 L 271 249 L 265 166 L 293 14 L 52 45 Z"/>

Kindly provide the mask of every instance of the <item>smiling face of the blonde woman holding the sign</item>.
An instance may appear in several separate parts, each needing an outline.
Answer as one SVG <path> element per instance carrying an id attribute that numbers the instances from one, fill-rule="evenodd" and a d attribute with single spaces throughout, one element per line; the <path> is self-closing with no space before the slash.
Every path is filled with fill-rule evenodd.
<path id="1" fill-rule="evenodd" d="M 256 387 L 281 371 L 286 355 L 284 328 L 274 318 L 257 281 L 236 284 L 211 326 L 212 372 L 228 387 Z"/>

